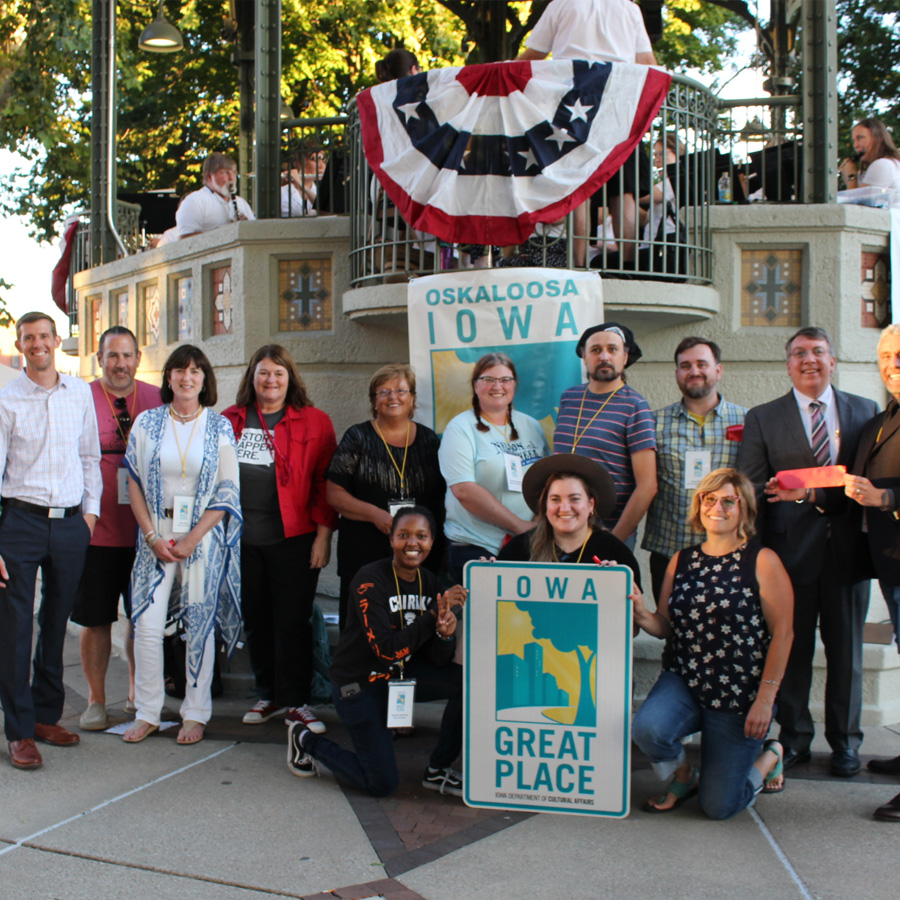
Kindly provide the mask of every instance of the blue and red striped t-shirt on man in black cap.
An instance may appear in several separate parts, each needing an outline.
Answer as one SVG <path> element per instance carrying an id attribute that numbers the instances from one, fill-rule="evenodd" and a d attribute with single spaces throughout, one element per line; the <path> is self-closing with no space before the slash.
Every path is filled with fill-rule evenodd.
<path id="1" fill-rule="evenodd" d="M 601 407 L 603 411 L 599 412 Z M 653 413 L 634 388 L 623 385 L 612 397 L 609 393 L 593 394 L 586 384 L 563 392 L 553 434 L 553 452 L 588 456 L 612 475 L 616 484 L 616 506 L 612 515 L 604 520 L 607 528 L 619 521 L 634 492 L 632 455 L 640 450 L 655 449 Z"/>

